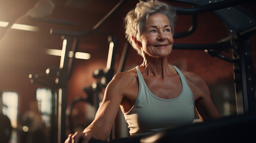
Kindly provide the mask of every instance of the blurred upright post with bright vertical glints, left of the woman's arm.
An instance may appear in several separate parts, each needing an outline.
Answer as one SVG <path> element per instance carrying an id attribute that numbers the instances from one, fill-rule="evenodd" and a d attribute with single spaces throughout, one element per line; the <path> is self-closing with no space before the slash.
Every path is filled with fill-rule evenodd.
<path id="1" fill-rule="evenodd" d="M 66 102 L 67 102 L 67 79 L 69 67 L 69 51 L 71 48 L 71 38 L 63 38 L 62 54 L 60 59 L 60 75 L 58 78 L 58 143 L 63 143 L 66 139 Z"/>

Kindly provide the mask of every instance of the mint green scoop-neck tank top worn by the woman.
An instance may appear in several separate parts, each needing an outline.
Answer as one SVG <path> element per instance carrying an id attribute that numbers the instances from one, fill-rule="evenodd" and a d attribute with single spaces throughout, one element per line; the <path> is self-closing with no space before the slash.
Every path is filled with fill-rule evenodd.
<path id="1" fill-rule="evenodd" d="M 193 123 L 195 101 L 192 91 L 183 73 L 173 67 L 180 75 L 182 91 L 178 97 L 169 100 L 153 95 L 138 66 L 136 67 L 139 83 L 137 99 L 131 110 L 124 114 L 131 136 L 150 135 L 160 130 Z"/>

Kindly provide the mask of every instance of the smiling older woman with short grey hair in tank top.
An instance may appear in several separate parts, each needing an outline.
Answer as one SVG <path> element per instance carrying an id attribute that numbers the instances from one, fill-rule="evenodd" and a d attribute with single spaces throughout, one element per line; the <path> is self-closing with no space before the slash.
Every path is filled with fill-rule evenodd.
<path id="1" fill-rule="evenodd" d="M 144 58 L 140 66 L 116 74 L 107 85 L 94 121 L 66 142 L 106 140 L 119 106 L 131 136 L 192 124 L 196 107 L 202 120 L 220 115 L 206 83 L 197 74 L 168 64 L 175 11 L 159 1 L 140 1 L 125 17 L 126 37 Z"/>

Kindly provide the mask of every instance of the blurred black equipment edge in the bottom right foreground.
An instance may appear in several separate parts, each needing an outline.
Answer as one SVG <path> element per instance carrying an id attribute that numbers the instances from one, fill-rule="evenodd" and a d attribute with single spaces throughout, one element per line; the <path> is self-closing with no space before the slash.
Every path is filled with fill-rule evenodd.
<path id="1" fill-rule="evenodd" d="M 164 130 L 144 136 L 140 142 L 255 142 L 255 128 L 256 115 L 244 114 Z"/>

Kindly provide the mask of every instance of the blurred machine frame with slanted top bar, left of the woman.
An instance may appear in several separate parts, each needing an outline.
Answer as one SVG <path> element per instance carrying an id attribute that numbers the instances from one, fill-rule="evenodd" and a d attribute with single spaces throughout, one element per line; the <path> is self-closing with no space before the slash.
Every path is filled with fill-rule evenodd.
<path id="1" fill-rule="evenodd" d="M 52 35 L 61 35 L 63 38 L 63 49 L 61 54 L 61 60 L 60 60 L 60 67 L 57 70 L 57 77 L 55 77 L 54 82 L 50 82 L 50 84 L 44 84 L 44 82 L 41 82 L 41 84 L 44 84 L 45 86 L 51 86 L 54 89 L 57 89 L 58 95 L 56 101 L 57 104 L 55 104 L 55 109 L 58 111 L 55 111 L 54 113 L 57 113 L 58 119 L 57 119 L 57 142 L 61 143 L 66 140 L 66 95 L 67 95 L 67 81 L 69 80 L 70 75 L 72 74 L 73 69 L 73 60 L 75 56 L 72 56 L 69 58 L 69 51 L 72 51 L 73 53 L 76 52 L 76 48 L 79 42 L 79 38 L 82 36 L 89 36 L 94 33 L 97 33 L 98 29 L 104 24 L 106 20 L 111 17 L 115 11 L 117 11 L 122 5 L 125 4 L 127 0 L 122 0 L 116 4 L 116 6 L 105 16 L 103 17 L 95 26 L 86 31 L 82 32 L 72 32 L 72 31 L 66 31 L 66 30 L 60 30 L 60 29 L 51 29 L 50 33 Z M 114 55 L 113 55 L 114 56 Z M 109 70 L 107 71 L 110 73 L 113 73 L 113 71 Z M 43 74 L 42 76 L 45 76 Z M 39 80 L 39 78 L 33 76 L 33 74 L 30 74 L 30 79 L 33 83 L 39 83 L 36 79 Z M 107 84 L 107 81 L 109 80 L 109 77 L 105 80 L 105 85 Z M 47 82 L 49 83 L 49 82 Z M 56 124 L 55 124 L 56 125 Z M 55 128 L 54 128 L 55 129 Z"/>

